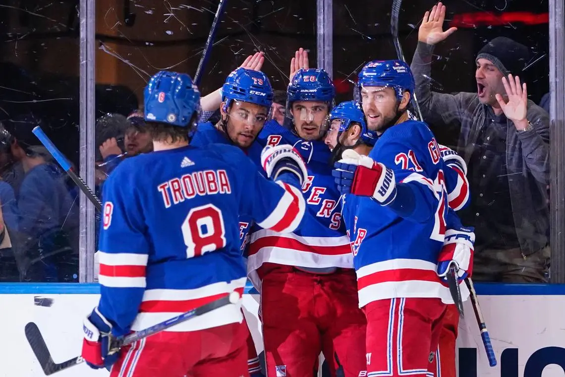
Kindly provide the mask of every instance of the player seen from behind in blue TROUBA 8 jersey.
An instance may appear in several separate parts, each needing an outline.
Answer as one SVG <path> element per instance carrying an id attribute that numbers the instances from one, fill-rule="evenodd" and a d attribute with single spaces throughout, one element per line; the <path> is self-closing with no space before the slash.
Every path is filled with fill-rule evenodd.
<path id="1" fill-rule="evenodd" d="M 108 339 L 242 293 L 238 214 L 265 228 L 293 231 L 305 203 L 291 184 L 305 181 L 306 168 L 292 147 L 267 148 L 263 166 L 275 184 L 237 148 L 189 146 L 186 135 L 200 96 L 188 75 L 159 72 L 144 94 L 154 151 L 125 160 L 106 181 L 101 298 L 84 321 L 82 357 L 92 367 L 112 366 L 112 377 L 247 376 L 240 305 L 223 306 L 118 353 L 109 352 Z"/>

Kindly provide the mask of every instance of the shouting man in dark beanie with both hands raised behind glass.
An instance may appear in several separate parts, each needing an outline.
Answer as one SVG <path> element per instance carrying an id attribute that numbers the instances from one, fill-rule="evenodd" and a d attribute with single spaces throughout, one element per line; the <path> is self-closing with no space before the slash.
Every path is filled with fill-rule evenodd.
<path id="1" fill-rule="evenodd" d="M 460 128 L 458 153 L 468 164 L 471 204 L 459 215 L 475 227 L 473 279 L 546 282 L 549 269 L 549 118 L 527 99 L 523 68 L 528 47 L 510 38 L 488 42 L 476 57 L 477 91 L 430 90 L 434 45 L 443 31 L 445 6 L 426 12 L 411 69 L 424 120 Z"/>

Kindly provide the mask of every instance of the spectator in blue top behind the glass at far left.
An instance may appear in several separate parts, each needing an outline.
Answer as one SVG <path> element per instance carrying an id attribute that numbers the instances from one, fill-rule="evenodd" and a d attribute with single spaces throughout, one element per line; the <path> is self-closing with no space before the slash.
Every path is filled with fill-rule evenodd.
<path id="1" fill-rule="evenodd" d="M 33 144 L 38 141 L 32 129 L 40 123 L 33 115 L 16 117 L 2 132 L 10 144 L 7 158 L 24 172 L 17 194 L 18 236 L 12 232 L 16 226 L 10 229 L 12 249 L 24 281 L 78 281 L 78 205 L 66 174 L 45 148 Z"/>

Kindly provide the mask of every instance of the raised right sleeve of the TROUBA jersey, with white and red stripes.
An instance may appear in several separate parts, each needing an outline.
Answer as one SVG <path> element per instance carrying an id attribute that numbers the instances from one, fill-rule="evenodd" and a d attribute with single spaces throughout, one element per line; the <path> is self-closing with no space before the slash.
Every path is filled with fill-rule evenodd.
<path id="1" fill-rule="evenodd" d="M 261 175 L 257 166 L 240 150 L 223 155 L 240 178 L 240 216 L 250 216 L 264 229 L 293 232 L 301 222 L 306 207 L 298 177 L 283 174 L 275 183 Z"/>

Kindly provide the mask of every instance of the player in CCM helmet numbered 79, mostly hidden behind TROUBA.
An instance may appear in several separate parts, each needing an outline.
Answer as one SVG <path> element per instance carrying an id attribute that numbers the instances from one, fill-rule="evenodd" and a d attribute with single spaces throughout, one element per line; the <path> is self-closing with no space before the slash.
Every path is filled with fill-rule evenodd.
<path id="1" fill-rule="evenodd" d="M 190 145 L 230 144 L 238 146 L 246 153 L 266 120 L 270 118 L 273 98 L 271 83 L 263 72 L 240 67 L 229 74 L 221 93 L 220 122 L 215 125 L 210 122 L 198 124 Z M 255 146 L 259 148 L 258 145 Z M 240 214 L 242 253 L 245 253 L 252 226 L 253 218 Z M 261 376 L 259 357 L 250 332 L 247 334 L 247 353 L 249 374 L 252 377 Z"/>

